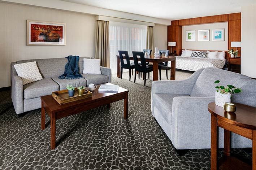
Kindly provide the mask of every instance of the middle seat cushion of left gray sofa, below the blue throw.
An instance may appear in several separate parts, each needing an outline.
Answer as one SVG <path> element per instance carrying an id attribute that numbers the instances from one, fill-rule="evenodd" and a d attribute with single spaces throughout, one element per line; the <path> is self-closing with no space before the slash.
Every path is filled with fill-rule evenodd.
<path id="1" fill-rule="evenodd" d="M 74 87 L 86 86 L 86 79 L 59 79 L 58 77 L 52 78 L 60 86 L 60 90 L 66 90 L 67 84 L 71 84 Z"/>

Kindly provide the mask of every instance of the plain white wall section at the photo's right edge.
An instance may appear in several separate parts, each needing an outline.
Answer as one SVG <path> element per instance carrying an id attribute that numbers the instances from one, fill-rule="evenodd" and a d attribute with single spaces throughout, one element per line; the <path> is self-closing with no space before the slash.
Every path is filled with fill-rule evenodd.
<path id="1" fill-rule="evenodd" d="M 256 5 L 243 6 L 241 14 L 241 74 L 256 78 Z"/>

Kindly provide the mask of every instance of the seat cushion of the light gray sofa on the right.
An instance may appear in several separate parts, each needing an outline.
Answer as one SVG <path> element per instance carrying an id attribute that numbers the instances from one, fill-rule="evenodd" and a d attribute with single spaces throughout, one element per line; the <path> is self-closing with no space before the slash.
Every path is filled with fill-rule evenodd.
<path id="1" fill-rule="evenodd" d="M 153 94 L 154 105 L 161 106 L 157 107 L 162 117 L 164 117 L 165 121 L 170 123 L 172 117 L 172 108 L 173 108 L 173 98 L 178 96 L 189 96 L 186 94 L 161 94 L 155 93 Z"/>

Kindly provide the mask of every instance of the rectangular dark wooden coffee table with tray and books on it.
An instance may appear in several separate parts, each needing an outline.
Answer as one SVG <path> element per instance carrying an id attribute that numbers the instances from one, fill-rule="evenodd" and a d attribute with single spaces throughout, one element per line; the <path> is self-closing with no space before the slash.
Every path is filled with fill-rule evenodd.
<path id="1" fill-rule="evenodd" d="M 111 83 L 107 83 L 111 84 Z M 99 92 L 100 85 L 97 85 L 95 91 L 92 92 L 92 97 L 74 101 L 67 104 L 58 104 L 52 95 L 41 97 L 41 128 L 45 129 L 45 111 L 51 118 L 51 149 L 56 147 L 56 120 L 73 114 L 83 112 L 85 110 L 97 108 L 102 105 L 107 105 L 110 108 L 110 103 L 124 99 L 124 118 L 128 118 L 128 92 L 125 88 L 119 87 L 118 92 Z M 88 90 L 88 87 L 86 88 Z"/>

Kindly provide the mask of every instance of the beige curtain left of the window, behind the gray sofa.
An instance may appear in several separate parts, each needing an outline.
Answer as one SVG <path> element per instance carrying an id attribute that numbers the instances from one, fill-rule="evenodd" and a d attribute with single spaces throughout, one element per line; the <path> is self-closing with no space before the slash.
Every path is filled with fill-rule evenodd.
<path id="1" fill-rule="evenodd" d="M 109 67 L 109 21 L 96 21 L 95 58 Z"/>

